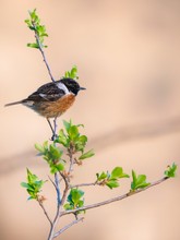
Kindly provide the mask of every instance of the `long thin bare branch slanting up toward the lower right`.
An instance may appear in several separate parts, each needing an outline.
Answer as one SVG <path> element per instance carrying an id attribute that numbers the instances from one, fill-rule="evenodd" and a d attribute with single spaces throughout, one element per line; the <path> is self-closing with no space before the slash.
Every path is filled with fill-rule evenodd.
<path id="1" fill-rule="evenodd" d="M 147 189 L 149 189 L 149 188 L 152 188 L 152 187 L 155 187 L 155 185 L 157 185 L 157 184 L 160 184 L 161 182 L 166 181 L 167 179 L 169 179 L 169 178 L 168 178 L 168 177 L 164 177 L 164 178 L 160 179 L 160 180 L 157 180 L 157 181 L 155 181 L 155 182 L 152 182 L 151 185 L 148 185 L 147 188 L 139 189 L 139 190 L 136 190 L 136 191 L 134 191 L 134 192 L 128 192 L 128 193 L 125 193 L 125 194 L 123 194 L 123 195 L 116 196 L 116 197 L 113 197 L 113 199 L 106 200 L 106 201 L 103 201 L 103 202 L 99 202 L 99 203 L 95 203 L 95 204 L 91 204 L 91 205 L 87 205 L 87 206 L 79 207 L 79 208 L 76 208 L 76 209 L 65 211 L 65 212 L 61 213 L 61 216 L 68 215 L 68 214 L 74 214 L 74 213 L 76 213 L 76 212 L 79 212 L 79 211 L 86 211 L 86 209 L 91 209 L 91 208 L 104 206 L 104 205 L 106 205 L 106 204 L 110 204 L 110 203 L 113 203 L 113 202 L 117 202 L 117 201 L 121 201 L 121 200 L 127 199 L 127 197 L 129 197 L 129 196 L 132 196 L 132 195 L 134 195 L 134 194 L 136 194 L 136 193 L 143 192 L 143 191 L 145 191 L 145 190 L 147 190 Z"/>

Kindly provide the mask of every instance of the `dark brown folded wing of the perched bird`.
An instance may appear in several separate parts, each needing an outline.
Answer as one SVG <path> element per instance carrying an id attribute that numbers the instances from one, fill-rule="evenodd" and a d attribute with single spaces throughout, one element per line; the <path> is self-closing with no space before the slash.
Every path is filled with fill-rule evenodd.
<path id="1" fill-rule="evenodd" d="M 55 101 L 61 98 L 64 94 L 64 91 L 60 89 L 56 83 L 47 83 L 40 86 L 23 101 Z"/>

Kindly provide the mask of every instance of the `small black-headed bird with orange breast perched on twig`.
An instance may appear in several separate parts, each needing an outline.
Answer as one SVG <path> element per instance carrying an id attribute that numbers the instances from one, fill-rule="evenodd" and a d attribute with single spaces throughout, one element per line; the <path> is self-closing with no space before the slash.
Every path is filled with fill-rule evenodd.
<path id="1" fill-rule="evenodd" d="M 56 132 L 51 125 L 50 119 L 53 118 L 56 128 L 57 118 L 73 105 L 76 95 L 83 89 L 86 88 L 81 87 L 75 80 L 63 77 L 41 85 L 27 98 L 7 104 L 5 107 L 22 104 L 45 117 L 52 131 L 51 140 L 53 140 L 56 137 Z"/>

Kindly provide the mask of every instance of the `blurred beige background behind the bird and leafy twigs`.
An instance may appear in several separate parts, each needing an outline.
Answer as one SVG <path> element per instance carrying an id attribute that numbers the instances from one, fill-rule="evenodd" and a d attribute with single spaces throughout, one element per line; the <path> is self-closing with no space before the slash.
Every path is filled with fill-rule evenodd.
<path id="1" fill-rule="evenodd" d="M 47 122 L 23 106 L 3 105 L 50 81 L 24 24 L 37 8 L 49 38 L 46 55 L 56 79 L 73 64 L 87 88 L 62 119 L 84 123 L 96 156 L 77 168 L 74 182 L 91 182 L 100 170 L 122 166 L 163 177 L 180 163 L 180 1 L 49 0 L 0 2 L 0 239 L 44 240 L 48 223 L 20 182 L 28 167 L 47 179 L 34 143 L 49 139 Z M 59 128 L 62 121 L 59 119 Z M 129 190 L 86 190 L 87 204 Z M 86 213 L 83 224 L 60 239 L 179 240 L 180 177 L 146 192 Z M 45 187 L 52 214 L 53 188 Z M 68 223 L 68 218 L 61 221 Z M 62 226 L 61 225 L 61 226 Z"/>

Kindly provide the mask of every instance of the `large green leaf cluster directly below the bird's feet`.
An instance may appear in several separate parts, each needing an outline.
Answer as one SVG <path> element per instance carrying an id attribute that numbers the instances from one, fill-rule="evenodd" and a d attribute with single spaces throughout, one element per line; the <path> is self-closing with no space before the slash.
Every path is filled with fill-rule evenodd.
<path id="1" fill-rule="evenodd" d="M 49 144 L 48 141 L 45 141 L 44 144 L 35 144 L 35 148 L 38 151 L 38 156 L 43 156 L 43 158 L 49 164 L 51 173 L 63 171 L 65 168 L 65 160 L 63 159 L 65 156 L 62 146 L 67 148 L 68 154 L 75 155 L 80 153 L 79 158 L 74 158 L 76 164 L 81 164 L 82 160 L 94 156 L 93 149 L 85 152 L 87 136 L 80 133 L 80 128 L 83 125 L 75 125 L 71 120 L 69 122 L 63 121 L 63 125 L 64 129 L 59 131 L 57 139 L 52 143 Z"/>

